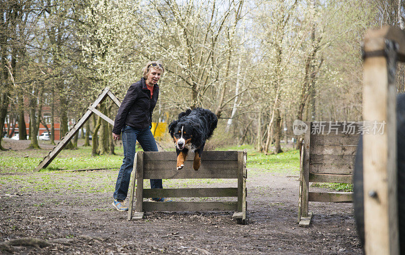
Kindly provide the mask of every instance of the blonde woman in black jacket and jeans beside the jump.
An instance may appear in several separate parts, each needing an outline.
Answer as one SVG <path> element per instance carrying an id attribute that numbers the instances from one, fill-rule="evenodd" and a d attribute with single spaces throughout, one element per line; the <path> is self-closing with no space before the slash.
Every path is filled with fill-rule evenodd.
<path id="1" fill-rule="evenodd" d="M 115 117 L 112 138 L 119 140 L 122 131 L 124 145 L 124 160 L 118 172 L 112 203 L 118 211 L 128 211 L 124 200 L 127 198 L 134 166 L 136 140 L 139 141 L 145 152 L 157 152 L 156 141 L 150 127 L 153 108 L 159 96 L 157 82 L 164 71 L 161 63 L 149 62 L 143 69 L 142 79 L 128 89 Z M 150 179 L 150 188 L 163 189 L 161 179 Z M 152 200 L 163 202 L 165 198 L 153 198 Z"/>

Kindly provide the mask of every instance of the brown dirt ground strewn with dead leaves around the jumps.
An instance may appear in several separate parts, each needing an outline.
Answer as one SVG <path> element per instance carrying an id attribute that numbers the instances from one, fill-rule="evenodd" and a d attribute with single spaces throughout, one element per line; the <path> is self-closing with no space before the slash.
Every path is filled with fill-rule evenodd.
<path id="1" fill-rule="evenodd" d="M 94 172 L 14 175 L 58 178 L 71 184 L 91 177 L 97 185 L 105 181 L 103 176 L 118 173 L 99 170 L 95 178 Z M 350 203 L 310 202 L 312 224 L 298 227 L 296 179 L 273 173 L 250 176 L 248 169 L 247 225 L 232 220 L 233 212 L 146 212 L 142 221 L 127 221 L 127 212 L 112 207 L 110 191 L 80 192 L 68 186 L 35 191 L 28 181 L 10 181 L 0 184 L 0 242 L 33 237 L 48 241 L 49 246 L 3 245 L 0 253 L 362 254 Z"/>

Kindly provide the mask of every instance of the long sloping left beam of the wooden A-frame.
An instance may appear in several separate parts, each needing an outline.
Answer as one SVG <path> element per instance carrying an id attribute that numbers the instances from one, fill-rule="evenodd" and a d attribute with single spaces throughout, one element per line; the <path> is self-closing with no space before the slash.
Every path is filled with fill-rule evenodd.
<path id="1" fill-rule="evenodd" d="M 96 107 L 97 104 L 102 102 L 105 97 L 107 96 L 109 88 L 106 87 L 101 94 L 97 97 L 97 99 L 92 103 L 91 106 Z M 66 146 L 68 141 L 76 134 L 76 132 L 85 124 L 85 122 L 90 118 L 93 114 L 92 111 L 87 110 L 86 113 L 77 121 L 77 123 L 70 129 L 69 132 L 61 139 L 61 141 L 49 152 L 47 156 L 39 163 L 39 165 L 35 168 L 35 171 L 39 171 L 42 168 L 47 167 L 52 160 L 63 150 Z"/>

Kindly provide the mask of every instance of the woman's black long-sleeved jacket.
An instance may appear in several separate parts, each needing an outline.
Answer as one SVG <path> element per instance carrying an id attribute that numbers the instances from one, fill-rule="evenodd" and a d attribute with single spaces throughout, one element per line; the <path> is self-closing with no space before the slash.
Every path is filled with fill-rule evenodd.
<path id="1" fill-rule="evenodd" d="M 157 84 L 153 87 L 152 99 L 144 78 L 132 84 L 119 106 L 112 132 L 120 134 L 124 125 L 137 129 L 149 128 L 149 125 L 152 125 L 152 112 L 158 96 L 159 86 Z"/>

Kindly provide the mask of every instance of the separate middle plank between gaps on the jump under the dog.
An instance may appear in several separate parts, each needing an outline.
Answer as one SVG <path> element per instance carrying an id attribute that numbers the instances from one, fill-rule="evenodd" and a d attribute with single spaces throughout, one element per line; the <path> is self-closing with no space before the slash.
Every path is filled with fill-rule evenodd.
<path id="1" fill-rule="evenodd" d="M 143 189 L 143 197 L 237 197 L 237 188 Z"/>

